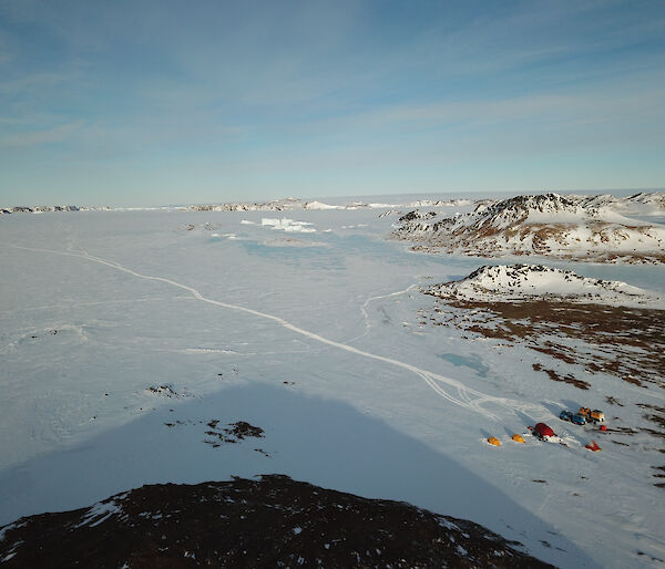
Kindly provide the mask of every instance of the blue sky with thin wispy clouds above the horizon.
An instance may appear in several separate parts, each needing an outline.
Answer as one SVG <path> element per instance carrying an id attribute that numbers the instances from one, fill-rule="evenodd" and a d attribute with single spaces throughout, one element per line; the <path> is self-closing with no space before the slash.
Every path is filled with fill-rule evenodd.
<path id="1" fill-rule="evenodd" d="M 665 2 L 0 0 L 0 205 L 665 186 Z"/>

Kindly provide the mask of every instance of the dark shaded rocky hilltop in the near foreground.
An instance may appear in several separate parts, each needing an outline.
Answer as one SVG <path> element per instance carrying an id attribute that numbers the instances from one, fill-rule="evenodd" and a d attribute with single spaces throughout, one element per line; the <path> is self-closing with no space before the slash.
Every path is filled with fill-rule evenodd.
<path id="1" fill-rule="evenodd" d="M 513 546 L 515 544 L 512 544 Z M 155 485 L 0 528 L 2 567 L 551 567 L 463 519 L 291 480 Z"/>

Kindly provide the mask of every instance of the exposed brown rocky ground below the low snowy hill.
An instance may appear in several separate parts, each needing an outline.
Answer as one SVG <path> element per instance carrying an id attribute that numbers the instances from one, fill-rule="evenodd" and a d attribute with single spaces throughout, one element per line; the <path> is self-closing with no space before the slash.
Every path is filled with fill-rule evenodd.
<path id="1" fill-rule="evenodd" d="M 536 371 L 555 381 L 589 389 L 593 375 L 607 373 L 635 385 L 665 387 L 665 311 L 544 300 L 436 303 L 429 319 L 434 325 L 522 343 L 585 372 L 583 380 L 561 377 L 538 364 Z"/>

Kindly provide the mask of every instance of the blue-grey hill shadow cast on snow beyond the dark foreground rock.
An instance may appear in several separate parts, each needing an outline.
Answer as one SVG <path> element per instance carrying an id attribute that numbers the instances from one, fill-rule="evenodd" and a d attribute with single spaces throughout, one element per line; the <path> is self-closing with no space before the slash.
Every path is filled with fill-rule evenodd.
<path id="1" fill-rule="evenodd" d="M 144 484 L 196 484 L 231 475 L 280 473 L 326 488 L 409 501 L 473 520 L 528 544 L 532 555 L 555 565 L 595 566 L 545 520 L 454 457 L 346 403 L 263 383 L 160 403 L 167 406 L 78 447 L 0 473 L 0 525 L 20 516 L 90 506 Z M 262 427 L 265 438 L 213 447 L 204 442 L 209 438 L 205 431 L 212 420 L 219 421 L 218 428 L 247 421 Z"/>

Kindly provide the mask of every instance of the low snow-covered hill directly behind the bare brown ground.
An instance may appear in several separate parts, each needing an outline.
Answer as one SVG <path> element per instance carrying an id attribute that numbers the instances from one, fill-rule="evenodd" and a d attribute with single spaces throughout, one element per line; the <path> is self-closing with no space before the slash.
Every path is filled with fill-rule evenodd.
<path id="1" fill-rule="evenodd" d="M 621 281 L 581 277 L 543 265 L 485 265 L 464 279 L 429 287 L 429 294 L 474 302 L 565 299 L 665 309 L 663 299 Z"/>

